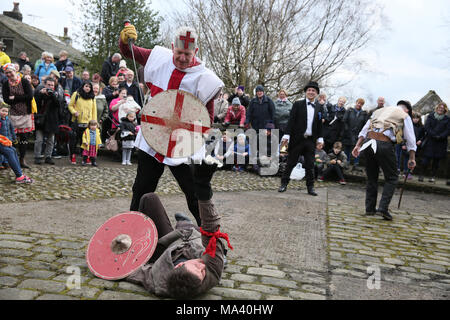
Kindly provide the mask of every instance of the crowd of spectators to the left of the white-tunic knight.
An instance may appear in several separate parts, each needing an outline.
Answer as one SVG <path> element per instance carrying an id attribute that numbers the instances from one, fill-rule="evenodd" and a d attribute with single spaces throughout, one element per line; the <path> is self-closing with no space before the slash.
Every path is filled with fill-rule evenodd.
<path id="1" fill-rule="evenodd" d="M 36 165 L 54 165 L 54 159 L 63 156 L 77 164 L 80 156 L 81 165 L 97 166 L 99 147 L 114 138 L 120 147 L 124 141 L 122 164 L 131 164 L 130 141 L 134 140 L 144 103 L 142 86 L 135 81 L 134 72 L 119 53 L 106 59 L 92 77 L 70 60 L 67 51 L 62 50 L 58 56 L 55 61 L 53 53 L 43 52 L 33 64 L 27 53 L 21 52 L 17 61 L 11 62 L 0 50 L 0 130 L 4 142 L 0 169 L 11 167 L 17 182 L 32 182 L 23 178 L 21 170 L 30 168 L 25 155 L 33 140 Z M 117 135 L 122 121 L 127 122 L 126 130 Z"/>

